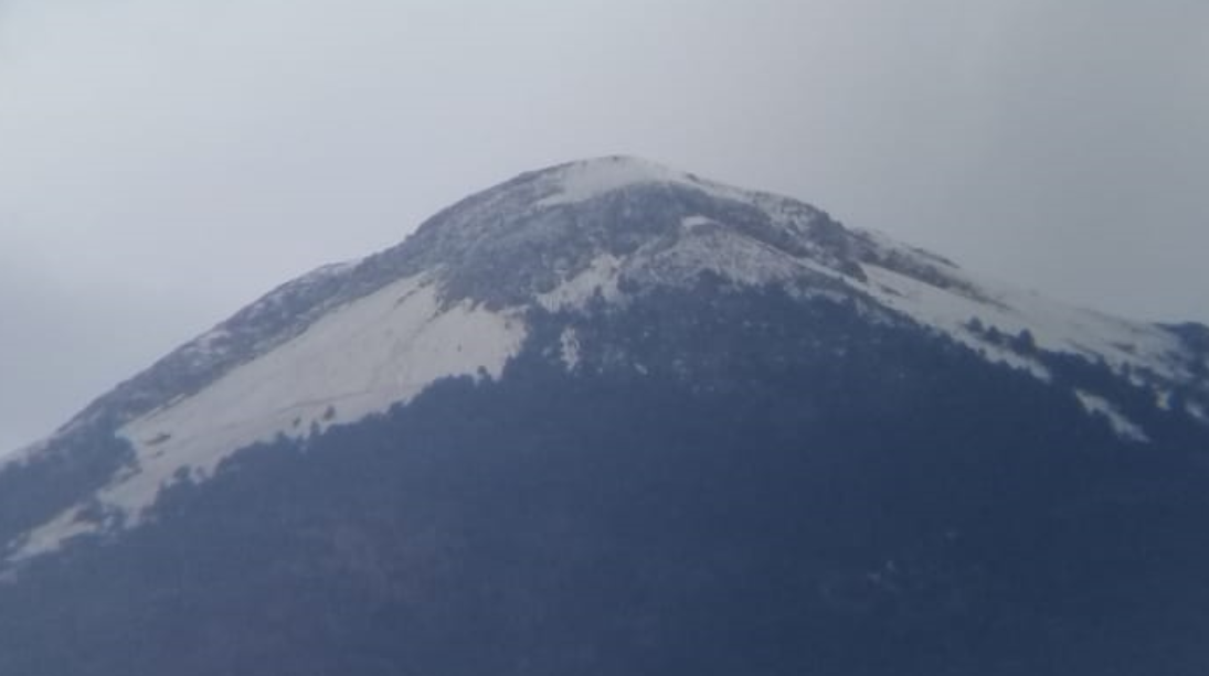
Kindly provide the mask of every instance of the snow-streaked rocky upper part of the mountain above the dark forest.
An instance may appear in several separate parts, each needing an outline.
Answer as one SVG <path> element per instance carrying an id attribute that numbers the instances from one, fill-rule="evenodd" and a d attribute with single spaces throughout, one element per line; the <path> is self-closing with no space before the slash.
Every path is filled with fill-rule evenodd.
<path id="1" fill-rule="evenodd" d="M 468 197 L 398 246 L 278 287 L 97 400 L 21 462 L 88 453 L 85 435 L 116 436 L 131 458 L 102 464 L 110 473 L 98 488 L 11 542 L 10 556 L 137 523 L 164 483 L 207 476 L 256 442 L 355 422 L 444 377 L 498 377 L 526 340 L 531 310 L 624 303 L 692 287 L 702 273 L 851 301 L 877 321 L 919 324 L 1042 379 L 1049 373 L 1030 350 L 1076 354 L 1161 396 L 1180 391 L 1194 415 L 1209 410 L 1198 375 L 1209 369 L 1209 333 L 1070 308 L 792 198 L 607 157 Z M 1104 392 L 1080 401 L 1145 442 Z M 86 517 L 97 512 L 116 518 Z"/>

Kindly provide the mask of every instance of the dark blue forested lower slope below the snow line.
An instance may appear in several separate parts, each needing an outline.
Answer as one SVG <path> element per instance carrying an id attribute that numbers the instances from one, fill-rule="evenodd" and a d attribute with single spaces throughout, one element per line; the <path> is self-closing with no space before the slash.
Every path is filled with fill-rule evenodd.
<path id="1" fill-rule="evenodd" d="M 1104 365 L 708 275 L 527 321 L 19 569 L 0 672 L 1209 672 L 1207 435 Z"/>

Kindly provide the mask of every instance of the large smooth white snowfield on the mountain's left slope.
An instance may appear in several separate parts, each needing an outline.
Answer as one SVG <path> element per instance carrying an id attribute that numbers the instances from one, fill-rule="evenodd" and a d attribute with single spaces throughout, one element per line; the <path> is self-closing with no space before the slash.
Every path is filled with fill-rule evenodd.
<path id="1" fill-rule="evenodd" d="M 398 281 L 331 311 L 201 392 L 127 424 L 120 433 L 135 447 L 139 471 L 115 479 L 99 501 L 134 524 L 180 468 L 209 474 L 241 448 L 383 413 L 444 377 L 498 377 L 525 336 L 519 314 L 469 302 L 442 308 L 435 284 Z M 74 513 L 33 532 L 17 558 L 53 549 L 86 529 Z"/>

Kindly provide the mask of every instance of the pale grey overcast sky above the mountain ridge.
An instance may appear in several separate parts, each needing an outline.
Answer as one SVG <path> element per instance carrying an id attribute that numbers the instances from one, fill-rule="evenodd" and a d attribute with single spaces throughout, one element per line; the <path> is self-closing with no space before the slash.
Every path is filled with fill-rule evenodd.
<path id="1" fill-rule="evenodd" d="M 1204 0 L 0 0 L 0 449 L 296 274 L 611 153 L 1209 320 Z"/>

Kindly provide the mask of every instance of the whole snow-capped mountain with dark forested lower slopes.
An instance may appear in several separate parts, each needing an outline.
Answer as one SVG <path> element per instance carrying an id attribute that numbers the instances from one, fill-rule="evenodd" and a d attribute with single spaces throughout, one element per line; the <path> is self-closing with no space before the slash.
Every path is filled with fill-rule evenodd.
<path id="1" fill-rule="evenodd" d="M 1203 674 L 1209 327 L 611 157 L 0 470 L 0 672 Z"/>

